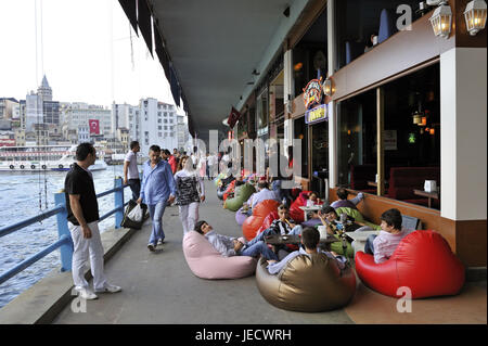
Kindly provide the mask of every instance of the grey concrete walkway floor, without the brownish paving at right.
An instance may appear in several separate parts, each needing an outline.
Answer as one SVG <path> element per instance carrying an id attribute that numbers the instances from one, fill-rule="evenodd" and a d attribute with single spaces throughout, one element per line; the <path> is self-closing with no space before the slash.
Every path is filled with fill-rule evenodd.
<path id="1" fill-rule="evenodd" d="M 242 236 L 234 213 L 223 209 L 215 185 L 206 181 L 206 201 L 200 218 L 216 231 Z M 144 223 L 106 264 L 105 270 L 121 293 L 102 294 L 87 302 L 87 312 L 68 305 L 54 323 L 352 323 L 344 310 L 322 313 L 291 312 L 274 308 L 259 294 L 255 277 L 240 280 L 203 280 L 187 265 L 181 248 L 178 207 L 164 215 L 166 243 L 150 253 L 151 220 Z"/>

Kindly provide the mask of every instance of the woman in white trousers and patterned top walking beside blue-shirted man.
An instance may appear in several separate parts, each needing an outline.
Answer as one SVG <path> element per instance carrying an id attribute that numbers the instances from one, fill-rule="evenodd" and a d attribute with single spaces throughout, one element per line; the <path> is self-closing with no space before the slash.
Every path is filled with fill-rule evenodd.
<path id="1" fill-rule="evenodd" d="M 191 157 L 182 161 L 183 169 L 175 175 L 176 203 L 180 209 L 180 220 L 183 225 L 183 234 L 193 230 L 198 220 L 200 202 L 205 201 L 205 185 L 198 171 L 193 168 Z"/>

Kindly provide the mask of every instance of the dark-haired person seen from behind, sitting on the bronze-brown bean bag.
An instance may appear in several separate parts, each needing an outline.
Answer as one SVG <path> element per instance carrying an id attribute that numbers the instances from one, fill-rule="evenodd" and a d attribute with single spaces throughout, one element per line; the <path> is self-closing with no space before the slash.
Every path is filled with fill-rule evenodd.
<path id="1" fill-rule="evenodd" d="M 285 258 L 283 258 L 281 261 L 277 260 L 268 260 L 268 271 L 270 274 L 277 274 L 280 272 L 281 269 L 283 269 L 288 261 L 291 261 L 293 258 L 295 258 L 298 255 L 312 255 L 312 254 L 319 254 L 323 253 L 328 257 L 333 258 L 337 267 L 342 270 L 346 267 L 346 257 L 338 256 L 335 253 L 324 252 L 320 248 L 318 248 L 320 241 L 320 233 L 318 230 L 316 230 L 312 227 L 307 227 L 304 229 L 301 233 L 301 244 L 304 246 L 300 246 L 300 249 L 295 251 L 287 255 Z M 305 247 L 305 248 L 304 248 Z"/>

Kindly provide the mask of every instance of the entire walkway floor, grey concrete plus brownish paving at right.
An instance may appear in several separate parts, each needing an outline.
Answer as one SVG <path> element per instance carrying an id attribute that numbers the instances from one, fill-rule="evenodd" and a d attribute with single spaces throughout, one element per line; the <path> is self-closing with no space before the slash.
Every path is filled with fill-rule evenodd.
<path id="1" fill-rule="evenodd" d="M 201 219 L 216 231 L 240 236 L 234 213 L 222 209 L 216 188 L 206 182 L 207 200 Z M 87 303 L 87 312 L 67 306 L 54 323 L 164 323 L 164 324 L 345 324 L 345 323 L 487 323 L 486 281 L 466 284 L 455 297 L 419 299 L 411 313 L 398 313 L 397 300 L 364 287 L 346 309 L 303 313 L 278 309 L 259 294 L 255 277 L 240 280 L 196 278 L 184 259 L 178 208 L 164 216 L 166 244 L 159 253 L 146 248 L 151 222 L 138 231 L 105 266 L 108 279 L 123 286 Z M 447 313 L 446 311 L 450 311 Z"/>

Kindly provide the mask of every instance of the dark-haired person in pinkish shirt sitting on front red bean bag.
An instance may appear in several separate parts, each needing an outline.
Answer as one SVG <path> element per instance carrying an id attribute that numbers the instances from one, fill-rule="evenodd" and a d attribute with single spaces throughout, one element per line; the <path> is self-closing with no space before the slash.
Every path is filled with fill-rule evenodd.
<path id="1" fill-rule="evenodd" d="M 398 209 L 388 209 L 380 217 L 382 230 L 378 235 L 368 236 L 364 253 L 374 255 L 376 264 L 387 260 L 400 241 L 411 232 L 401 227 L 401 214 Z"/>

